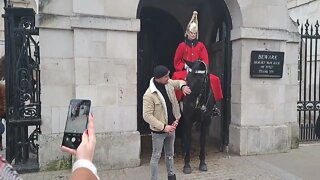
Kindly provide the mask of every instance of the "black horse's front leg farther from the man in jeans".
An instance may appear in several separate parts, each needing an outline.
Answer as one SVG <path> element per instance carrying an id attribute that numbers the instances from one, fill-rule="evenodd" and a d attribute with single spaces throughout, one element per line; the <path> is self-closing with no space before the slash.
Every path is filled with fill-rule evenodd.
<path id="1" fill-rule="evenodd" d="M 210 118 L 210 117 L 204 117 L 204 118 Z M 208 126 L 210 124 L 210 119 L 204 119 L 201 123 L 201 131 L 200 131 L 200 164 L 199 164 L 199 170 L 200 171 L 207 171 L 207 164 L 205 162 L 206 154 L 205 154 L 205 148 L 206 148 L 206 140 L 207 140 L 207 130 Z"/>

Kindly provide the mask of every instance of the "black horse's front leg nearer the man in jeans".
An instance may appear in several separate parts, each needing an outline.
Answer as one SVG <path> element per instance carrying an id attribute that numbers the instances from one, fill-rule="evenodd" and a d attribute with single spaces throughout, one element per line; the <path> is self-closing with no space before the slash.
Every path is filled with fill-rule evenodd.
<path id="1" fill-rule="evenodd" d="M 185 131 L 184 131 L 184 167 L 183 173 L 190 174 L 192 172 L 190 166 L 190 145 L 191 145 L 191 129 L 192 129 L 192 122 L 191 119 L 185 117 Z"/>

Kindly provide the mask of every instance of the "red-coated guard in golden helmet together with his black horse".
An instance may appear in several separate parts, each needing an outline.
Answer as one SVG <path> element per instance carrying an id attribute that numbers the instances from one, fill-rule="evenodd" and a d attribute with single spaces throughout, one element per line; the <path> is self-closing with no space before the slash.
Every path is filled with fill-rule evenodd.
<path id="1" fill-rule="evenodd" d="M 190 146 L 192 126 L 197 123 L 200 127 L 200 171 L 207 171 L 205 163 L 205 145 L 208 127 L 212 116 L 219 115 L 216 101 L 222 100 L 222 89 L 219 77 L 208 71 L 209 58 L 205 45 L 198 41 L 198 19 L 194 11 L 187 26 L 185 41 L 180 43 L 175 56 L 174 67 L 176 72 L 172 79 L 186 80 L 191 94 L 183 97 L 181 91 L 176 91 L 177 99 L 183 103 L 183 120 L 178 128 L 182 129 L 182 143 L 184 145 L 183 172 L 190 174 Z M 183 98 L 182 98 L 183 97 Z M 181 104 L 181 103 L 180 103 Z"/>

